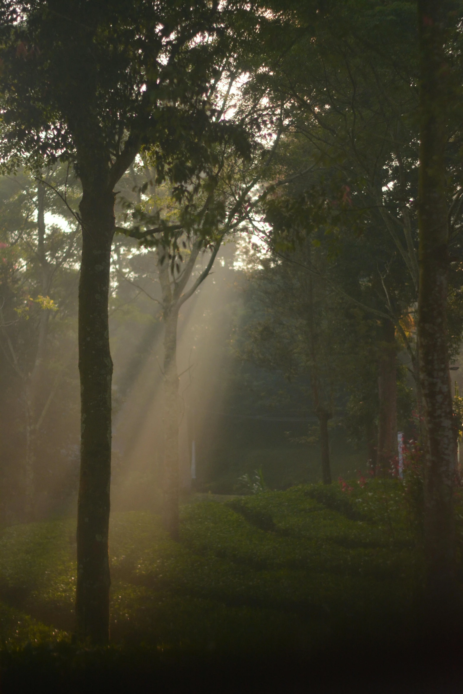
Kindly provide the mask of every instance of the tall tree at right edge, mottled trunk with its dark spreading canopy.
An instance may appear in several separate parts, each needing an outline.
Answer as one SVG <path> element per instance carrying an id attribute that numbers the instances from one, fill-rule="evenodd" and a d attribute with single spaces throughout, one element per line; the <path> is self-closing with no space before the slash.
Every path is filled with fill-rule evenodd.
<path id="1" fill-rule="evenodd" d="M 461 47 L 460 29 L 449 31 L 446 22 L 452 17 L 455 28 L 461 8 L 420 1 L 419 41 L 415 3 L 338 3 L 336 12 L 320 12 L 315 29 L 311 9 L 294 3 L 292 10 L 299 22 L 287 61 L 279 69 L 269 63 L 260 79 L 269 84 L 276 77 L 278 102 L 283 91 L 294 127 L 320 153 L 319 165 L 335 169 L 338 187 L 353 207 L 357 200 L 378 220 L 406 268 L 398 285 L 405 289 L 397 305 L 402 312 L 394 310 L 389 291 L 382 312 L 407 346 L 419 404 L 423 391 L 428 592 L 438 604 L 452 593 L 455 555 L 448 376 L 455 334 L 448 334 L 446 316 L 448 280 L 457 279 L 449 275 L 449 248 L 455 262 L 462 257 Z M 416 304 L 417 339 L 410 340 L 401 323 L 407 314 L 416 318 Z"/>

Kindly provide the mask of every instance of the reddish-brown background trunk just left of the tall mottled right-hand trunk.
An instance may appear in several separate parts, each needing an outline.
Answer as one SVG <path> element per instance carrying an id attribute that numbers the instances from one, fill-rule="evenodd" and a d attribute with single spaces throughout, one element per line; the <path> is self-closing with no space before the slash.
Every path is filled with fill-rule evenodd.
<path id="1" fill-rule="evenodd" d="M 381 355 L 378 364 L 378 453 L 377 467 L 386 475 L 397 455 L 397 372 L 396 338 L 392 321 L 382 324 Z"/>

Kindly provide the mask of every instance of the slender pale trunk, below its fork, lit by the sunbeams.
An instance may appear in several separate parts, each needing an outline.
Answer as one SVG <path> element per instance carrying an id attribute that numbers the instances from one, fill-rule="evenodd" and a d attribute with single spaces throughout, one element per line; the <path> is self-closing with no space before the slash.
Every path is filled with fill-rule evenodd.
<path id="1" fill-rule="evenodd" d="M 178 307 L 164 315 L 164 484 L 162 523 L 172 539 L 178 540 Z"/>

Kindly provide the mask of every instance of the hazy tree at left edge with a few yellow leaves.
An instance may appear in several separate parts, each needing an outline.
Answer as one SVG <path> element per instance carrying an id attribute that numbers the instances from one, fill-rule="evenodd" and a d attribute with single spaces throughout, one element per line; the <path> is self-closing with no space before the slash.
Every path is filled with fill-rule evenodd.
<path id="1" fill-rule="evenodd" d="M 71 298 L 60 289 L 73 275 L 78 256 L 78 227 L 68 231 L 45 222 L 45 212 L 54 214 L 61 223 L 74 221 L 68 208 L 51 191 L 50 186 L 64 180 L 66 169 L 58 167 L 37 182 L 26 172 L 1 180 L 0 237 L 3 246 L 3 276 L 0 307 L 0 347 L 6 365 L 15 380 L 19 379 L 24 407 L 24 518 L 35 516 L 37 437 L 55 398 L 68 364 L 66 359 L 45 375 L 49 367 L 50 321 L 53 333 L 57 323 L 65 322 Z M 75 180 L 67 185 L 69 201 L 78 198 Z M 58 289 L 58 285 L 60 289 Z M 72 291 L 71 287 L 68 289 Z M 47 393 L 44 396 L 44 391 Z"/>

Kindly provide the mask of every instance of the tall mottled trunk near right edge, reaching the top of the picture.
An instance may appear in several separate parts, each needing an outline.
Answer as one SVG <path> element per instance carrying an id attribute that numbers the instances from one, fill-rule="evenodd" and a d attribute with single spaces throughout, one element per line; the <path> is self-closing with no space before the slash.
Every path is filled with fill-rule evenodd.
<path id="1" fill-rule="evenodd" d="M 455 591 L 454 441 L 446 342 L 448 227 L 444 155 L 449 68 L 444 51 L 445 3 L 419 0 L 418 7 L 421 69 L 418 333 L 426 424 L 426 591 L 435 616 L 444 616 Z"/>

